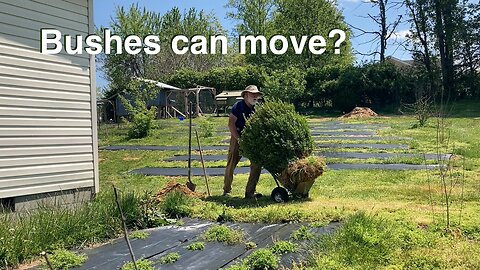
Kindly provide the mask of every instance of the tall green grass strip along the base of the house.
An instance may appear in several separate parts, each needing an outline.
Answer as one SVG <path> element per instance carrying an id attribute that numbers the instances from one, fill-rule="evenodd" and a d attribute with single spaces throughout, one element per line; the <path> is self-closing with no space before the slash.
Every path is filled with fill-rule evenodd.
<path id="1" fill-rule="evenodd" d="M 40 252 L 84 248 L 122 232 L 113 192 L 104 191 L 92 202 L 66 208 L 41 206 L 30 213 L 0 214 L 0 268 L 38 258 Z M 146 198 L 121 192 L 120 204 L 130 229 L 146 228 Z"/>

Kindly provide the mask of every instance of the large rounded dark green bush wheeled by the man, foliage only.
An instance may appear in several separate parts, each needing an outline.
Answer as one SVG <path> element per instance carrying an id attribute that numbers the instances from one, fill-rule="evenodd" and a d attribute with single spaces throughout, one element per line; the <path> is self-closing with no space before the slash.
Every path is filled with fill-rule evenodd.
<path id="1" fill-rule="evenodd" d="M 293 105 L 277 100 L 267 100 L 256 109 L 240 139 L 241 154 L 274 174 L 309 156 L 313 146 L 306 119 Z"/>

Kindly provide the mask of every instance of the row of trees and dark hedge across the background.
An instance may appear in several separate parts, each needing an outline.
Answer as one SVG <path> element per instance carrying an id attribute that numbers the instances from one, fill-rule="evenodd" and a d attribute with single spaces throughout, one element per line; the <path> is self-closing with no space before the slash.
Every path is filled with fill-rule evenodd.
<path id="1" fill-rule="evenodd" d="M 191 8 L 173 8 L 159 14 L 132 5 L 119 7 L 110 29 L 120 36 L 155 34 L 162 50 L 156 55 L 110 54 L 100 56 L 109 82 L 106 96 L 128 92 L 132 78 L 159 80 L 178 87 L 211 86 L 217 92 L 239 90 L 256 84 L 267 96 L 299 107 L 330 107 L 349 110 L 353 106 L 382 109 L 428 97 L 436 102 L 480 97 L 480 8 L 457 0 L 403 0 L 405 18 L 411 24 L 408 43 L 412 67 L 401 69 L 385 56 L 387 40 L 401 16 L 388 18 L 386 0 L 373 0 L 379 7 L 371 16 L 378 22 L 380 61 L 354 64 L 352 31 L 336 4 L 326 0 L 229 0 L 229 18 L 235 20 L 234 35 L 324 35 L 331 29 L 347 33 L 340 55 L 327 50 L 314 55 L 308 50 L 284 55 L 243 55 L 238 42 L 229 53 L 177 55 L 169 49 L 176 35 L 228 35 L 215 14 Z M 390 21 L 390 23 L 389 23 Z M 99 31 L 102 28 L 98 29 Z M 377 31 L 378 30 L 378 31 Z M 235 40 L 231 38 L 229 40 Z M 329 46 L 332 46 L 330 44 Z M 249 51 L 249 50 L 248 50 Z"/>

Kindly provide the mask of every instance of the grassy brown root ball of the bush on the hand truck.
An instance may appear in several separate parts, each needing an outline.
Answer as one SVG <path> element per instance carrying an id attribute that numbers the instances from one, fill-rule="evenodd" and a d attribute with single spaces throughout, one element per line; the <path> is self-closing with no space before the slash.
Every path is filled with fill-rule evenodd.
<path id="1" fill-rule="evenodd" d="M 282 171 L 279 180 L 285 188 L 295 194 L 308 194 L 315 179 L 323 174 L 325 166 L 324 159 L 320 157 L 297 159 Z"/>

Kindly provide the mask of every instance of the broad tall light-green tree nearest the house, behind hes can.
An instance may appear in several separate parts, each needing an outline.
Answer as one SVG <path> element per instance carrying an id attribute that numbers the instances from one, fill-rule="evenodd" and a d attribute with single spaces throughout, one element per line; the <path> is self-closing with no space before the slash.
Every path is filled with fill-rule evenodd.
<path id="1" fill-rule="evenodd" d="M 100 63 L 110 84 L 107 97 L 128 92 L 129 82 L 134 77 L 164 79 L 182 68 L 204 71 L 225 64 L 225 57 L 219 53 L 220 44 L 216 47 L 217 54 L 210 54 L 210 47 L 207 49 L 209 54 L 203 55 L 192 55 L 190 52 L 177 55 L 171 49 L 171 40 L 176 35 L 185 35 L 190 39 L 194 35 L 208 38 L 225 34 L 217 18 L 203 10 L 191 8 L 182 14 L 178 8 L 173 8 L 162 16 L 138 5 L 129 9 L 118 7 L 110 29 L 112 34 L 123 40 L 129 35 L 139 36 L 142 40 L 147 35 L 157 35 L 160 37 L 160 52 L 156 55 L 148 55 L 143 50 L 136 55 L 116 54 L 116 46 L 112 46 L 111 54 L 101 55 Z"/>

